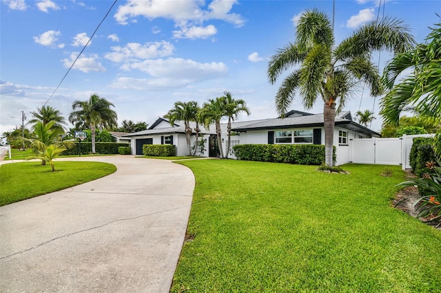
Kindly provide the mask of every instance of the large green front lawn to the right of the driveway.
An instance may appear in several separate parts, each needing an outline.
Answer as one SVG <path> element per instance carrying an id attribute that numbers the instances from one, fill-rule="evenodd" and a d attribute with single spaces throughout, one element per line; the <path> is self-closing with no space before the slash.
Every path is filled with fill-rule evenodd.
<path id="1" fill-rule="evenodd" d="M 441 231 L 390 206 L 399 166 L 179 164 L 196 189 L 172 292 L 440 292 Z"/>

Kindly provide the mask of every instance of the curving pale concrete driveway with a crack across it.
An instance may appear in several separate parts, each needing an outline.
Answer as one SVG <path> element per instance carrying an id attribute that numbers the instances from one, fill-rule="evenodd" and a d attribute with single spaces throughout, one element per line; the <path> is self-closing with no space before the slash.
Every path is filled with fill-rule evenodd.
<path id="1" fill-rule="evenodd" d="M 118 171 L 0 207 L 0 291 L 169 292 L 192 171 L 133 156 L 73 160 L 109 162 Z"/>

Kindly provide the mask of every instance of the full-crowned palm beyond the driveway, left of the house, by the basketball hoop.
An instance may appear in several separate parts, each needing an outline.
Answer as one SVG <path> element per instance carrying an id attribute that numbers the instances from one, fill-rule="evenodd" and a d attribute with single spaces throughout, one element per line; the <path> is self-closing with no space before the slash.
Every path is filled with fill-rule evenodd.
<path id="1" fill-rule="evenodd" d="M 96 127 L 111 127 L 116 125 L 116 112 L 110 109 L 114 107 L 112 102 L 105 98 L 100 98 L 93 94 L 89 100 L 76 100 L 72 104 L 72 111 L 69 116 L 71 123 L 81 124 L 85 123 L 90 127 L 92 133 L 92 153 L 95 153 L 95 136 Z"/>

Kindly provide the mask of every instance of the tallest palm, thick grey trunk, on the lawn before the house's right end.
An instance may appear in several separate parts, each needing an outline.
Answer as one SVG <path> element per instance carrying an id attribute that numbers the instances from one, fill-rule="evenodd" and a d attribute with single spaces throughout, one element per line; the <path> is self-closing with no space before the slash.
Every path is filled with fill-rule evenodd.
<path id="1" fill-rule="evenodd" d="M 279 49 L 269 61 L 267 74 L 271 84 L 285 70 L 294 67 L 276 94 L 278 113 L 285 116 L 296 91 L 306 109 L 311 109 L 320 96 L 324 102 L 325 164 L 333 166 L 336 105 L 340 111 L 360 82 L 367 83 L 371 96 L 382 92 L 371 51 L 385 49 L 399 53 L 409 50 L 413 43 L 409 29 L 401 21 L 387 18 L 364 25 L 336 45 L 326 14 L 308 10 L 298 22 L 294 43 Z"/>

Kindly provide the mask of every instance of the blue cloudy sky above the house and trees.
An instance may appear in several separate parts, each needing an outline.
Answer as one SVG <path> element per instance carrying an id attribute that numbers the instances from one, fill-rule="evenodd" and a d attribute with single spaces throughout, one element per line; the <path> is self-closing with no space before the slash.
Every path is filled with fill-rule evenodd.
<path id="1" fill-rule="evenodd" d="M 21 124 L 20 111 L 29 120 L 45 104 L 112 3 L 0 0 L 0 133 Z M 336 0 L 336 42 L 376 19 L 379 3 Z M 239 120 L 275 118 L 280 83 L 268 83 L 268 58 L 294 40 L 296 19 L 313 8 L 331 17 L 332 1 L 119 0 L 47 105 L 67 118 L 74 100 L 98 94 L 115 105 L 119 124 L 152 124 L 178 100 L 202 105 L 227 90 L 251 109 Z M 384 5 L 384 15 L 402 19 L 418 43 L 440 21 L 436 13 L 439 0 Z M 373 54 L 380 69 L 390 57 Z M 378 100 L 360 91 L 346 109 L 374 109 L 378 131 Z M 321 113 L 322 104 L 305 110 L 296 98 L 291 109 Z"/>

